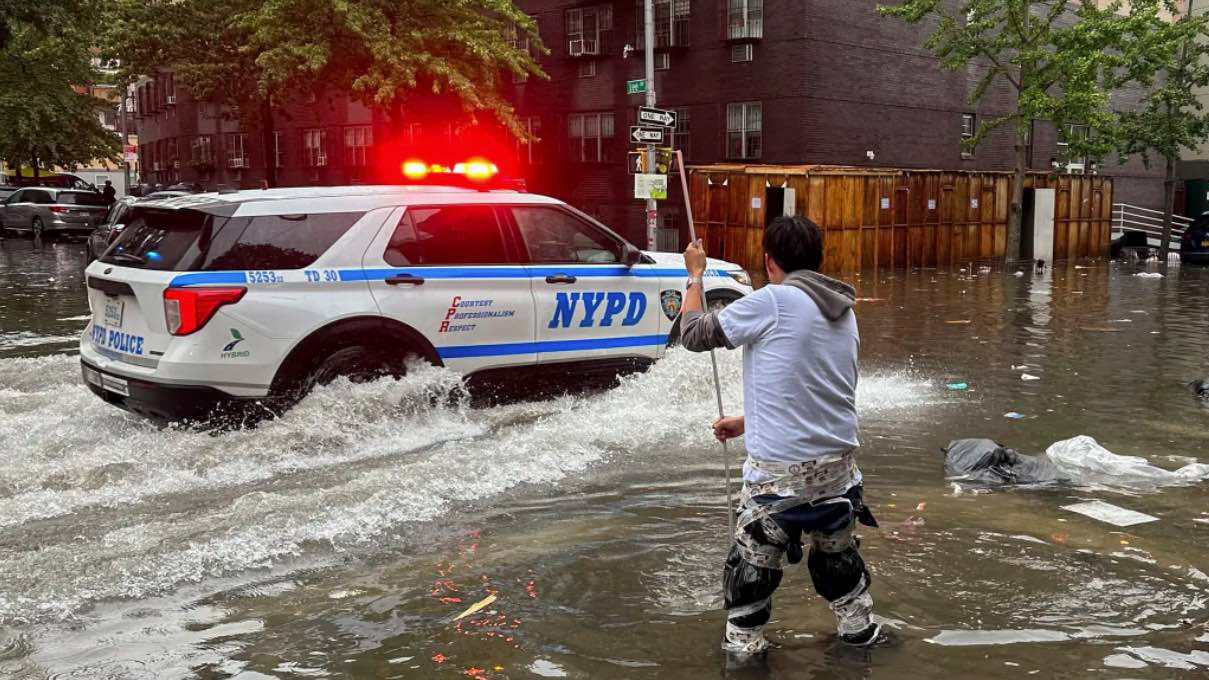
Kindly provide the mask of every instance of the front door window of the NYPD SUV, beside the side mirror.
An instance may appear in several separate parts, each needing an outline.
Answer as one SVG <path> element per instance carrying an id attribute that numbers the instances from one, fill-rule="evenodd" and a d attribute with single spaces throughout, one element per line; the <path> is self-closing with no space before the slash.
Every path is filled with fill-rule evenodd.
<path id="1" fill-rule="evenodd" d="M 530 260 L 545 264 L 617 264 L 621 244 L 557 208 L 515 207 L 513 215 Z"/>

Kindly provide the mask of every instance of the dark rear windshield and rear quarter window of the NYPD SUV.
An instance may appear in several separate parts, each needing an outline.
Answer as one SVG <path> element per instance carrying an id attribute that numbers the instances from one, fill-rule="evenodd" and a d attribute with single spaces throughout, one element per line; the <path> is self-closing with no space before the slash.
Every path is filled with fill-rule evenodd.
<path id="1" fill-rule="evenodd" d="M 102 261 L 162 271 L 302 269 L 365 213 L 227 217 L 133 207 Z"/>

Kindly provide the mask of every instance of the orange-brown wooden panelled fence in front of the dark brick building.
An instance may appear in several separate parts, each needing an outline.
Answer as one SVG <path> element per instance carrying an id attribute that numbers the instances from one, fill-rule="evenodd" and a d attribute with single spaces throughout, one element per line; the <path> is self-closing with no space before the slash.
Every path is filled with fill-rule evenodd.
<path id="1" fill-rule="evenodd" d="M 794 214 L 823 229 L 823 271 L 949 267 L 1002 258 L 1007 247 L 1011 173 L 740 165 L 689 172 L 694 226 L 708 253 L 752 272 L 763 271 L 765 217 L 788 196 L 783 189 Z M 1055 258 L 1107 254 L 1111 178 L 1035 174 L 1025 188 L 1057 189 Z"/>

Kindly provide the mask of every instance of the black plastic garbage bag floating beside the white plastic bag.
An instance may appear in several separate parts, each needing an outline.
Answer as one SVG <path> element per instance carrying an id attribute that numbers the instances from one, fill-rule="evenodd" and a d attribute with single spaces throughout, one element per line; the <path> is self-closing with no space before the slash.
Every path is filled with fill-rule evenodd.
<path id="1" fill-rule="evenodd" d="M 944 476 L 976 484 L 1059 484 L 1070 482 L 1045 456 L 1026 456 L 994 439 L 954 439 L 944 451 Z"/>

